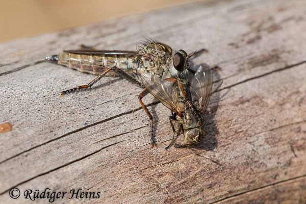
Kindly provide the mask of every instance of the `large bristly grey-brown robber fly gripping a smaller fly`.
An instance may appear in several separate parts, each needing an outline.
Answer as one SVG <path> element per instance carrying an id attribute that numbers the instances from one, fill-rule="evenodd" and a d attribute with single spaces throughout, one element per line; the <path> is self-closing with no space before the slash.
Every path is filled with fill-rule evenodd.
<path id="1" fill-rule="evenodd" d="M 144 77 L 141 77 L 143 74 L 153 74 L 160 79 L 185 79 L 195 73 L 192 69 L 191 56 L 192 54 L 187 55 L 182 49 L 173 52 L 172 48 L 165 43 L 148 39 L 137 46 L 137 51 L 64 50 L 59 55 L 48 56 L 42 60 L 98 75 L 88 84 L 61 91 L 61 96 L 64 96 L 70 92 L 91 88 L 104 76 L 121 77 L 140 87 L 145 87 L 142 80 Z M 150 119 L 151 141 L 154 145 L 153 117 L 142 102 L 142 98 L 148 91 L 151 90 L 145 87 L 139 94 L 139 102 Z"/>

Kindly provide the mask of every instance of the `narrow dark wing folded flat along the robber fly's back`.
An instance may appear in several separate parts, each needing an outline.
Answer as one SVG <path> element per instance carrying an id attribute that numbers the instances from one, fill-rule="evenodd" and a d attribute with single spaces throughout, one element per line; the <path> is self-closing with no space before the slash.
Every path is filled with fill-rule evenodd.
<path id="1" fill-rule="evenodd" d="M 127 50 L 88 50 L 88 49 L 75 49 L 75 50 L 64 50 L 64 53 L 73 53 L 80 55 L 102 55 L 102 56 L 142 56 L 135 51 Z"/>

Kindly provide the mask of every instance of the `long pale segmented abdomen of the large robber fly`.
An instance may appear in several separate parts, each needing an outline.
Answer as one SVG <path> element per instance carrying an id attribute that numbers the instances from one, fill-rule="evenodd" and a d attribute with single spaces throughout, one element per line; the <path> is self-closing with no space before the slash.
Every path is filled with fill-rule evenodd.
<path id="1" fill-rule="evenodd" d="M 59 55 L 58 64 L 65 65 L 72 69 L 77 69 L 82 72 L 100 74 L 108 68 L 118 67 L 126 73 L 137 71 L 139 60 L 137 57 L 118 57 L 100 56 L 100 55 L 84 55 L 74 53 L 61 53 Z M 108 72 L 108 76 L 117 76 L 115 72 Z"/>

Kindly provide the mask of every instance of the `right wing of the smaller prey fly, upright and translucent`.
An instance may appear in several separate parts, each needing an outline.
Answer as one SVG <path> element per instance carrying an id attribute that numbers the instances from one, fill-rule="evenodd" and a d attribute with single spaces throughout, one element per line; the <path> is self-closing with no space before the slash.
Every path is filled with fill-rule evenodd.
<path id="1" fill-rule="evenodd" d="M 212 93 L 213 74 L 210 66 L 202 64 L 196 70 L 191 80 L 190 93 L 194 105 L 204 112 L 208 106 Z"/>

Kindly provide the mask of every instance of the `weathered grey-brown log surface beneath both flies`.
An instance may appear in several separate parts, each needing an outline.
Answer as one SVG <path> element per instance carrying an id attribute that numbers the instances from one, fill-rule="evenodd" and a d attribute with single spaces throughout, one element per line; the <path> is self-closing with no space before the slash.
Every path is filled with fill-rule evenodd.
<path id="1" fill-rule="evenodd" d="M 0 45 L 1 203 L 8 191 L 100 191 L 91 203 L 306 203 L 306 2 L 192 3 Z M 150 148 L 141 89 L 41 57 L 79 44 L 135 49 L 143 37 L 205 49 L 198 62 L 224 80 L 195 148 L 165 150 L 169 111 L 148 96 L 158 147 Z M 182 139 L 182 136 L 178 140 Z M 41 203 L 45 199 L 36 200 Z M 57 203 L 74 203 L 57 199 Z"/>

